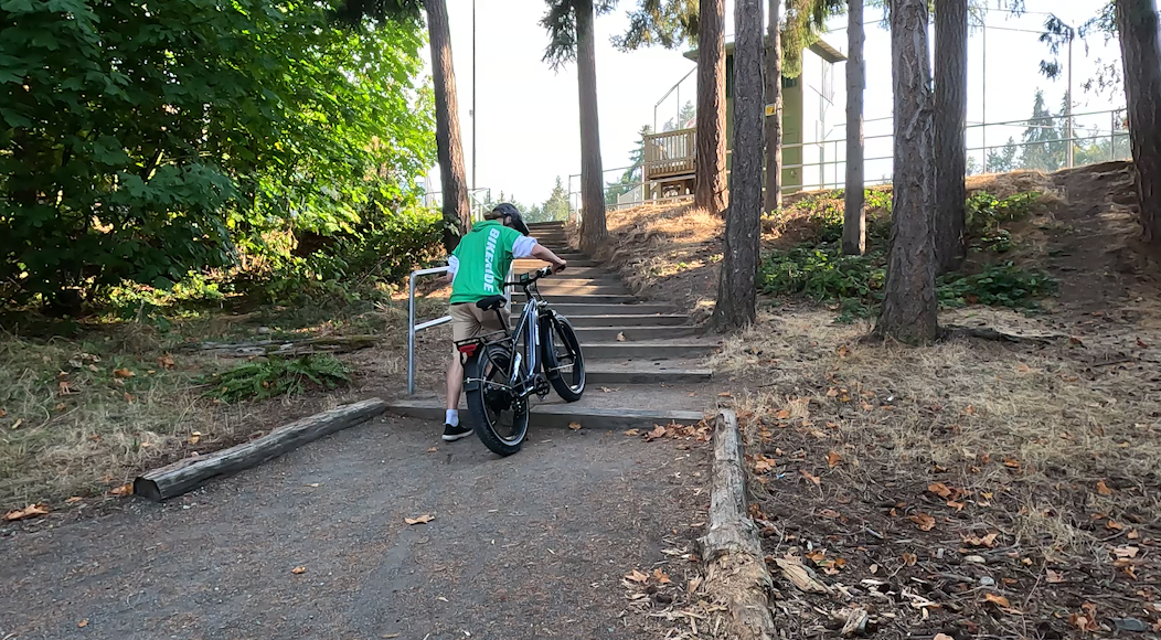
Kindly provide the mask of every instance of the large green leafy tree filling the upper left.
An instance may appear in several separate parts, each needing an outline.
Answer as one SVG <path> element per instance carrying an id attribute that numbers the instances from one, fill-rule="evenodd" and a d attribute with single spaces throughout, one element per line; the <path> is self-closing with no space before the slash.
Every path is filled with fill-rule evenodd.
<path id="1" fill-rule="evenodd" d="M 353 229 L 432 160 L 414 21 L 266 0 L 0 2 L 0 295 L 167 287 Z M 196 28 L 192 28 L 196 26 Z"/>

